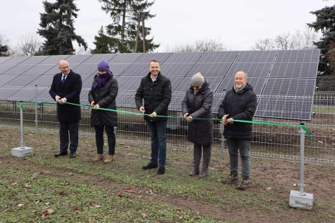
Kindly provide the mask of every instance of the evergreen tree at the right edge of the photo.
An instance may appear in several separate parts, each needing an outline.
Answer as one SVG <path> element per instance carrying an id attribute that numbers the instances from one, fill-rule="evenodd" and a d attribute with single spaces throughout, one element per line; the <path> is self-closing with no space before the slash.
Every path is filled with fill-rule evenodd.
<path id="1" fill-rule="evenodd" d="M 319 42 L 314 43 L 321 50 L 319 71 L 329 75 L 335 62 L 332 56 L 335 49 L 335 6 L 326 6 L 311 13 L 316 16 L 316 21 L 307 25 L 323 35 Z"/>

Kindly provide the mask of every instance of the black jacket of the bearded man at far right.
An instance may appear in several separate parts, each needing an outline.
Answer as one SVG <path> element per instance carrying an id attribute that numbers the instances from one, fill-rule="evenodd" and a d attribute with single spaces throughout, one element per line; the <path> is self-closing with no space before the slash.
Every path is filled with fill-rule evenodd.
<path id="1" fill-rule="evenodd" d="M 235 91 L 234 87 L 228 91 L 218 109 L 218 118 L 229 114 L 228 118 L 234 120 L 252 121 L 256 112 L 257 96 L 253 92 L 253 87 L 246 84 L 241 91 Z M 232 139 L 249 139 L 251 140 L 251 123 L 234 122 L 225 125 L 223 135 Z"/>

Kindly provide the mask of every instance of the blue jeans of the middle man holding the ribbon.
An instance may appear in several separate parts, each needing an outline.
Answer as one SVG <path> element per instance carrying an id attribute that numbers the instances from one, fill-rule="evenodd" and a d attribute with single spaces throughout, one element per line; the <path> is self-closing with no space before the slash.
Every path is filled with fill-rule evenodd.
<path id="1" fill-rule="evenodd" d="M 166 160 L 166 125 L 167 120 L 147 121 L 151 139 L 151 163 L 157 164 L 159 155 L 159 166 L 165 167 Z"/>

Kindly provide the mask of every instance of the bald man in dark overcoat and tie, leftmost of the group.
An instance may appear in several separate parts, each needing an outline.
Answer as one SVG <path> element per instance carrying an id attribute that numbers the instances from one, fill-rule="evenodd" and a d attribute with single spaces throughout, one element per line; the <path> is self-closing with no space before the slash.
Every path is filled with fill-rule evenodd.
<path id="1" fill-rule="evenodd" d="M 50 88 L 51 97 L 57 102 L 57 118 L 59 121 L 60 151 L 54 157 L 68 155 L 68 135 L 70 134 L 70 158 L 76 157 L 78 147 L 80 104 L 82 77 L 73 72 L 68 61 L 59 61 L 60 73 L 54 75 Z"/>

